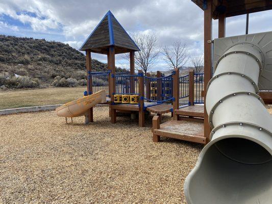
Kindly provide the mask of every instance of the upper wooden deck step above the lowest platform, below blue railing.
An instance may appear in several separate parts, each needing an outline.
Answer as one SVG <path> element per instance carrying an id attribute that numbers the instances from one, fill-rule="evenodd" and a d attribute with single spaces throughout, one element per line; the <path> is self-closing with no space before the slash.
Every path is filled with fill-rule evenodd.
<path id="1" fill-rule="evenodd" d="M 176 109 L 174 113 L 179 116 L 204 118 L 204 106 L 201 105 L 186 106 L 180 109 Z"/>

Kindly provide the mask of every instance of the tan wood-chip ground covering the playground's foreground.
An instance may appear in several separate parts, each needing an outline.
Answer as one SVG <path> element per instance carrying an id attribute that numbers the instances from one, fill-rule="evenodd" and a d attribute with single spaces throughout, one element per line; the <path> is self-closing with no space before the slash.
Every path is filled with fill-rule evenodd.
<path id="1" fill-rule="evenodd" d="M 184 180 L 202 145 L 154 143 L 151 119 L 144 128 L 129 117 L 111 124 L 108 107 L 94 108 L 94 121 L 0 116 L 0 203 L 186 203 Z"/>

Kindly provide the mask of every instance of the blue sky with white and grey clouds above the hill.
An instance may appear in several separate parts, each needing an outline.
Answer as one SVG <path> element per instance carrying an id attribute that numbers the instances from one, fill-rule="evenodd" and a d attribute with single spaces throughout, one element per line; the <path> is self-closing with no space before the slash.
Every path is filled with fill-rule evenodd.
<path id="1" fill-rule="evenodd" d="M 45 38 L 79 48 L 108 10 L 129 33 L 155 33 L 160 46 L 179 39 L 188 45 L 189 55 L 203 54 L 203 11 L 189 0 L 0 0 L 0 34 Z M 227 36 L 245 33 L 245 15 L 226 22 Z M 271 31 L 271 22 L 272 10 L 250 14 L 249 33 Z M 214 38 L 217 23 L 213 21 Z M 93 58 L 106 61 L 103 55 Z M 126 64 L 117 56 L 117 66 Z M 153 69 L 168 67 L 160 59 Z"/>

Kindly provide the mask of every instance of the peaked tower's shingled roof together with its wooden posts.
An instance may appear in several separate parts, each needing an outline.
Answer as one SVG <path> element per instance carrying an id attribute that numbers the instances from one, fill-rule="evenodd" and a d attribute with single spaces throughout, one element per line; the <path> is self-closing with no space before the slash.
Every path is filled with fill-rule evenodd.
<path id="1" fill-rule="evenodd" d="M 91 82 L 91 53 L 104 54 L 108 57 L 108 69 L 110 74 L 115 74 L 115 55 L 121 53 L 130 53 L 130 74 L 134 74 L 134 53 L 139 51 L 139 47 L 131 39 L 121 24 L 108 11 L 103 17 L 100 23 L 96 26 L 93 32 L 89 35 L 86 41 L 81 46 L 80 50 L 86 52 L 86 68 L 88 74 L 88 95 L 92 94 L 92 82 Z M 133 89 L 133 83 L 131 83 Z M 109 93 L 110 100 L 113 101 L 113 94 L 115 93 L 115 78 L 109 78 Z M 110 104 L 111 106 L 111 104 Z M 116 110 L 111 109 L 110 115 L 112 122 L 114 123 L 116 118 Z M 92 108 L 88 111 L 88 117 L 86 117 L 86 123 L 93 121 Z"/>

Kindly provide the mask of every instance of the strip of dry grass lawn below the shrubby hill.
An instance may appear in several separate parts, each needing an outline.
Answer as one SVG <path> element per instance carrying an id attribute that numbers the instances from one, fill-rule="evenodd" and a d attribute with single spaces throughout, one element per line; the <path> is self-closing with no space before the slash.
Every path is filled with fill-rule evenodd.
<path id="1" fill-rule="evenodd" d="M 0 91 L 0 110 L 64 104 L 83 96 L 87 87 Z"/>

